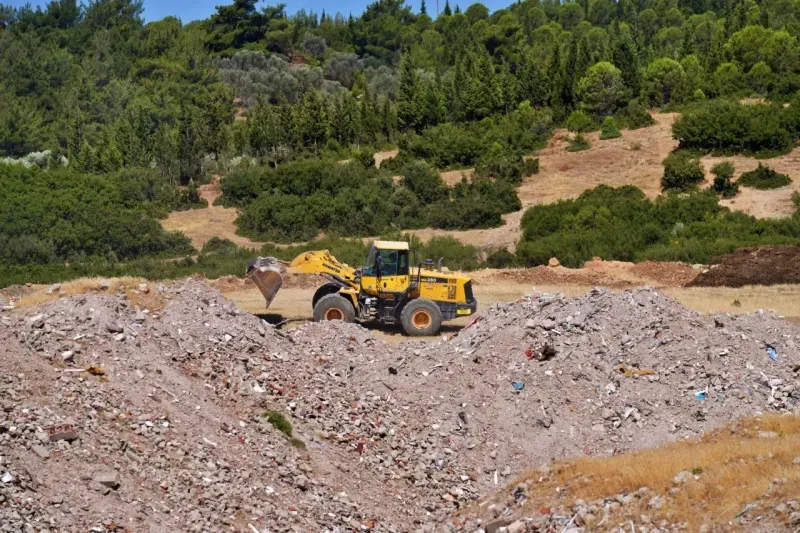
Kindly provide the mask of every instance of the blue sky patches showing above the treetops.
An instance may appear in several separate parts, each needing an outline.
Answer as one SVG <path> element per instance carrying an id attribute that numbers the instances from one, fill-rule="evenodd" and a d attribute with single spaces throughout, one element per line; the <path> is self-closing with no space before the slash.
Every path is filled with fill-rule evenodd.
<path id="1" fill-rule="evenodd" d="M 364 7 L 369 4 L 372 0 L 343 0 L 340 2 L 327 2 L 325 0 L 286 0 L 286 7 L 289 13 L 294 13 L 298 9 L 306 9 L 308 11 L 316 11 L 320 13 L 323 9 L 327 13 L 334 14 L 337 11 L 341 12 L 343 15 L 348 15 L 349 13 L 353 13 L 353 15 L 360 14 Z M 428 6 L 428 14 L 433 16 L 436 12 L 436 0 L 425 0 Z M 498 9 L 500 7 L 505 7 L 506 5 L 510 4 L 513 0 L 488 0 L 485 1 L 489 9 Z M 2 3 L 10 4 L 12 6 L 22 6 L 26 3 L 29 3 L 28 0 L 5 0 Z M 30 1 L 32 5 L 46 5 L 46 1 Z M 233 3 L 232 0 L 177 0 L 177 1 L 165 1 L 165 0 L 144 0 L 144 16 L 145 19 L 148 21 L 151 20 L 159 20 L 168 15 L 175 15 L 180 17 L 183 22 L 190 22 L 192 20 L 203 19 L 211 15 L 214 12 L 214 8 L 218 4 L 231 4 Z M 278 0 L 272 2 L 260 2 L 259 6 L 262 5 L 269 5 L 269 4 L 277 4 L 279 3 Z M 420 0 L 407 0 L 406 3 L 410 5 L 414 11 L 419 10 L 419 3 Z M 451 6 L 455 6 L 455 3 L 461 5 L 461 8 L 464 9 L 468 5 L 472 4 L 472 0 L 458 0 L 457 2 L 451 1 Z M 439 9 L 444 8 L 444 0 L 439 0 Z"/>

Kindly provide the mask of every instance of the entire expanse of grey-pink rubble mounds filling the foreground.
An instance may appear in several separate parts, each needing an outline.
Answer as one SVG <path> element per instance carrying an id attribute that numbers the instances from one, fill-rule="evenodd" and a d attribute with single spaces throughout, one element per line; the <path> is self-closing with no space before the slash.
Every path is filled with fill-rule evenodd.
<path id="1" fill-rule="evenodd" d="M 554 459 L 800 410 L 800 326 L 650 289 L 534 294 L 400 345 L 285 333 L 191 279 L 138 290 L 163 305 L 0 314 L 0 531 L 499 531 L 454 513 Z"/>

